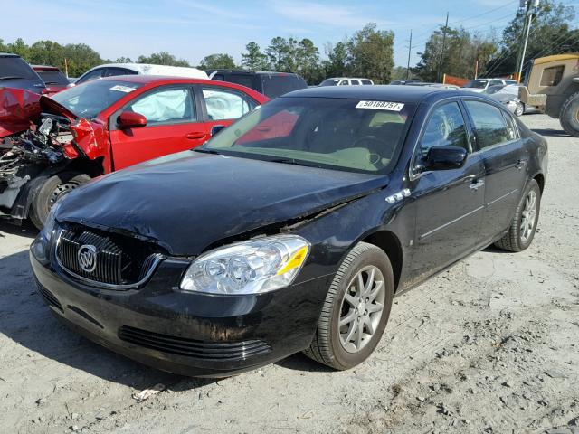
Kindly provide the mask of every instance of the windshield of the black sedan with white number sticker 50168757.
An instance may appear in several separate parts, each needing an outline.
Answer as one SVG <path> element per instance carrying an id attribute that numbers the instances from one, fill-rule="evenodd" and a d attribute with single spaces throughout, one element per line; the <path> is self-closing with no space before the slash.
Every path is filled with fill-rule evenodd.
<path id="1" fill-rule="evenodd" d="M 199 152 L 350 172 L 392 171 L 415 105 L 280 98 L 241 118 Z"/>

